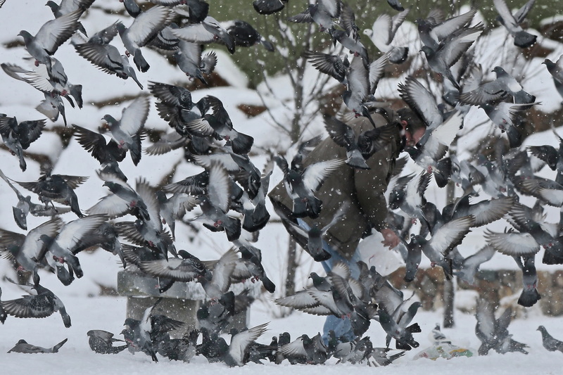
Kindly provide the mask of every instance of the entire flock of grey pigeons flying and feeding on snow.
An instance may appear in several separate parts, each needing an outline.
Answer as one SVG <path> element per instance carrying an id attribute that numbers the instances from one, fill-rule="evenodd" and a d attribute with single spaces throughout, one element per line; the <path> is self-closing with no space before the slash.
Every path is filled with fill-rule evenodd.
<path id="1" fill-rule="evenodd" d="M 35 34 L 25 30 L 20 32 L 25 49 L 34 61 L 33 70 L 15 63 L 2 63 L 1 67 L 6 74 L 44 93 L 45 100 L 36 109 L 50 120 L 61 115 L 67 125 L 63 98 L 71 106 L 82 107 L 82 86 L 70 84 L 63 63 L 53 57 L 58 47 L 68 40 L 80 56 L 97 68 L 124 80 L 130 77 L 140 89 L 144 87 L 137 80 L 137 73 L 146 72 L 151 67 L 142 54 L 144 48 L 160 51 L 175 61 L 187 76 L 201 80 L 203 84 L 207 84 L 205 76 L 213 72 L 217 63 L 215 53 L 202 56 L 205 44 L 224 44 L 230 53 L 234 53 L 236 47 L 258 43 L 268 51 L 275 50 L 270 41 L 245 21 L 217 22 L 208 14 L 209 5 L 203 0 L 151 0 L 155 5 L 145 10 L 134 0 L 122 2 L 131 17 L 128 26 L 122 22 L 113 23 L 87 36 L 80 18 L 94 0 L 63 0 L 61 4 L 53 1 L 46 4 L 54 18 Z M 281 11 L 286 2 L 255 0 L 253 6 L 258 13 L 267 16 Z M 536 42 L 536 36 L 520 26 L 533 2 L 528 1 L 512 14 L 504 0 L 493 0 L 500 23 L 513 37 L 514 45 L 522 49 Z M 334 51 L 307 51 L 305 57 L 320 72 L 346 86 L 343 103 L 356 117 L 370 118 L 369 108 L 381 107 L 376 100 L 377 84 L 386 67 L 405 63 L 408 58 L 409 46 L 393 46 L 392 42 L 410 9 L 403 8 L 396 0 L 388 0 L 388 3 L 396 14 L 378 18 L 376 22 L 379 24 L 374 30 L 381 32 L 360 32 L 353 9 L 341 0 L 317 0 L 303 12 L 288 18 L 294 23 L 316 23 L 318 32 L 331 38 Z M 0 7 L 2 4 L 4 1 L 0 2 Z M 443 268 L 445 277 L 457 276 L 473 283 L 479 265 L 499 252 L 512 256 L 521 269 L 524 285 L 518 303 L 530 307 L 541 297 L 537 291 L 534 263 L 540 247 L 545 249 L 545 264 L 563 264 L 563 237 L 559 236 L 563 222 L 543 222 L 545 204 L 563 206 L 563 139 L 559 138 L 559 149 L 519 147 L 519 127 L 525 121 L 524 113 L 539 103 L 510 72 L 500 66 L 481 67 L 472 61 L 471 48 L 479 43 L 479 36 L 484 31 L 482 24 L 472 25 L 475 14 L 476 9 L 448 19 L 438 11 L 431 12 L 426 18 L 419 15 L 417 25 L 422 52 L 429 69 L 443 77 L 444 92 L 438 98 L 414 75 L 406 77 L 398 86 L 400 97 L 424 120 L 427 128 L 416 146 L 405 148 L 422 172 L 400 176 L 398 168 L 389 189 L 388 203 L 393 211 L 388 221 L 403 239 L 396 250 L 405 260 L 406 281 L 415 279 L 422 253 L 432 265 Z M 110 44 L 118 34 L 125 46 L 125 55 Z M 372 61 L 360 42 L 362 35 L 367 35 L 381 50 L 377 60 Z M 336 50 L 350 51 L 350 61 L 348 56 L 342 58 L 333 54 Z M 129 56 L 133 57 L 134 67 L 129 65 Z M 563 96 L 563 57 L 556 63 L 546 59 L 545 65 Z M 493 70 L 496 80 L 481 82 L 483 68 Z M 348 317 L 357 340 L 346 342 L 333 335 L 327 343 L 320 334 L 312 338 L 304 334 L 291 341 L 288 333 L 281 333 L 269 345 L 256 343 L 266 331 L 267 324 L 241 332 L 230 331 L 230 344 L 220 336 L 230 318 L 252 302 L 245 292 L 234 295 L 229 291 L 233 282 L 252 279 L 261 281 L 266 291 L 275 291 L 275 285 L 262 267 L 260 249 L 253 246 L 246 235 L 257 234 L 270 219 L 266 196 L 274 162 L 284 172 L 286 187 L 296 203 L 293 215 L 315 217 L 322 210 L 322 202 L 315 197 L 320 184 L 343 163 L 365 168 L 365 159 L 385 145 L 384 129 L 374 129 L 358 139 L 350 138 L 345 122 L 327 117 L 327 132 L 338 146 L 346 147 L 346 160 L 329 160 L 303 169 L 301 160 L 318 141 L 312 139 L 301 144 L 291 163 L 277 155 L 267 163 L 264 171 L 260 171 L 248 157 L 253 137 L 234 129 L 220 98 L 205 96 L 194 103 L 188 89 L 161 82 L 150 82 L 148 91 L 156 98 L 158 114 L 175 132 L 163 136 L 156 144 L 145 148 L 145 152 L 157 155 L 184 148 L 186 160 L 203 167 L 204 171 L 165 186 L 151 186 L 144 179 L 137 179 L 134 186 L 127 182 L 127 176 L 120 170 L 120 162 L 127 158 L 127 153 L 134 165 L 141 160 L 146 134 L 144 125 L 150 108 L 146 96 L 139 96 L 129 103 L 120 119 L 103 116 L 108 125 L 109 140 L 103 134 L 72 125 L 75 139 L 99 161 L 101 167 L 97 175 L 103 181 L 102 186 L 108 189 L 108 195 L 91 208 L 80 208 L 75 193 L 88 177 L 44 171 L 37 181 L 20 182 L 0 171 L 5 182 L 3 189 L 9 187 L 17 197 L 13 207 L 15 223 L 26 231 L 21 234 L 0 229 L 0 250 L 4 258 L 17 263 L 18 270 L 32 274 L 32 284 L 19 284 L 30 291 L 29 295 L 1 301 L 2 323 L 8 315 L 42 318 L 59 312 L 64 325 L 69 327 L 70 316 L 63 302 L 40 284 L 38 269 L 55 273 L 61 283 L 69 285 L 75 277 L 80 279 L 84 275 L 80 252 L 100 247 L 118 255 L 124 268 L 158 278 L 161 292 L 177 281 L 196 281 L 209 301 L 198 310 L 199 329 L 183 338 L 170 336 L 170 331 L 183 323 L 153 314 L 152 307 L 140 320 L 125 320 L 125 329 L 121 333 L 125 338 L 123 345 L 114 345 L 120 340 L 113 338 L 113 333 L 91 330 L 88 332 L 90 346 L 99 353 L 117 353 L 127 348 L 131 352 L 144 352 L 154 361 L 158 360 L 158 353 L 171 360 L 186 362 L 199 354 L 210 362 L 222 361 L 230 366 L 262 360 L 280 363 L 285 359 L 292 364 L 320 364 L 331 356 L 340 362 L 386 365 L 403 355 L 404 350 L 419 346 L 413 333 L 421 330 L 412 320 L 420 303 L 404 298 L 403 292 L 394 288 L 375 267 L 369 268 L 363 262 L 358 264 L 359 279 L 350 277 L 346 264 L 337 263 L 326 277 L 310 274 L 312 286 L 276 300 L 279 305 L 310 314 Z M 483 108 L 493 125 L 507 134 L 509 147 L 500 150 L 495 160 L 483 155 L 474 160 L 446 156 L 471 106 Z M 22 171 L 27 167 L 24 151 L 41 137 L 45 126 L 46 120 L 20 122 L 9 114 L 0 115 L 2 140 L 18 158 Z M 498 144 L 502 145 L 502 142 Z M 536 177 L 538 161 L 557 171 L 554 180 Z M 455 203 L 438 210 L 424 197 L 432 177 L 441 187 L 450 181 L 455 182 L 462 187 L 463 195 Z M 16 185 L 36 194 L 39 203 L 33 202 L 31 196 L 25 196 Z M 480 191 L 491 198 L 471 204 L 470 198 L 479 196 Z M 529 207 L 520 203 L 522 195 L 537 198 L 536 205 Z M 201 222 L 210 231 L 224 231 L 232 242 L 233 247 L 219 260 L 205 262 L 186 250 L 177 250 L 175 222 L 183 220 L 186 212 L 191 210 L 196 210 L 198 215 L 190 222 Z M 341 212 L 344 210 L 346 207 Z M 77 220 L 64 222 L 59 215 L 66 212 L 75 214 Z M 29 214 L 50 219 L 38 227 L 28 228 Z M 134 221 L 112 221 L 118 217 L 134 217 Z M 460 255 L 457 246 L 472 227 L 501 218 L 512 228 L 504 233 L 487 230 L 485 247 L 468 258 Z M 341 214 L 336 215 L 333 223 L 340 219 Z M 421 223 L 420 231 L 410 234 L 415 221 Z M 312 227 L 304 230 L 296 226 L 291 230 L 298 232 L 305 250 L 315 260 L 326 260 L 329 255 L 322 253 L 320 243 L 327 229 Z M 526 345 L 514 341 L 507 330 L 512 310 L 506 310 L 495 319 L 495 307 L 486 300 L 479 300 L 476 318 L 476 334 L 482 342 L 479 354 L 485 355 L 489 350 L 526 352 Z M 374 348 L 369 337 L 363 337 L 372 321 L 379 322 L 386 332 L 386 348 Z M 562 350 L 562 343 L 551 338 L 543 326 L 538 330 L 542 332 L 548 350 Z M 396 348 L 402 351 L 387 355 L 392 339 Z M 12 351 L 57 352 L 64 343 L 49 349 L 20 341 Z"/>

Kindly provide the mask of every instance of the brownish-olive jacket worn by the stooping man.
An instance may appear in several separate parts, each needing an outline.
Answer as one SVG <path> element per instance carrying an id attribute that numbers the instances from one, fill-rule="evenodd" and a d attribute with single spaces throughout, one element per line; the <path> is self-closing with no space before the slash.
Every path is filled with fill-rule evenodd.
<path id="1" fill-rule="evenodd" d="M 372 119 L 377 127 L 387 125 L 387 120 L 379 113 L 372 113 Z M 348 122 L 348 125 L 353 128 L 356 136 L 373 129 L 372 123 L 366 117 L 355 118 Z M 303 217 L 309 226 L 316 223 L 318 227 L 324 227 L 331 222 L 341 205 L 348 202 L 349 207 L 343 218 L 324 236 L 324 240 L 346 259 L 352 257 L 360 239 L 365 234 L 369 234 L 372 228 L 379 231 L 384 227 L 387 217 L 384 193 L 400 152 L 400 143 L 401 134 L 398 125 L 396 134 L 388 144 L 366 161 L 369 170 L 355 169 L 347 164 L 341 165 L 315 193 L 315 196 L 322 201 L 320 216 L 316 219 Z M 303 160 L 303 166 L 307 167 L 312 163 L 335 158 L 346 159 L 346 149 L 336 145 L 330 137 L 327 137 Z M 276 211 L 284 210 L 286 217 L 291 216 L 287 214 L 291 212 L 293 203 L 283 181 L 272 189 L 269 196 Z"/>

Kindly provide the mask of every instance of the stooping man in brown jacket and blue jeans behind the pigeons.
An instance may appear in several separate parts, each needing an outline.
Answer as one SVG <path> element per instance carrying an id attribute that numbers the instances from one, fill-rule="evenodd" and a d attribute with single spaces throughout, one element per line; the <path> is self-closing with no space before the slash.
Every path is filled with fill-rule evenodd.
<path id="1" fill-rule="evenodd" d="M 312 224 L 324 227 L 331 222 L 339 208 L 346 204 L 348 207 L 342 219 L 333 224 L 324 236 L 323 249 L 331 255 L 331 258 L 323 261 L 322 265 L 325 271 L 329 272 L 334 262 L 342 260 L 348 264 L 351 276 L 356 279 L 360 274 L 357 265 L 360 260 L 357 251 L 358 243 L 371 233 L 372 228 L 381 233 L 384 238 L 381 242 L 384 246 L 394 248 L 400 242 L 395 231 L 386 223 L 388 210 L 384 193 L 393 175 L 395 161 L 400 151 L 404 146 L 417 144 L 426 129 L 424 122 L 407 108 L 399 110 L 398 113 L 391 109 L 374 108 L 370 114 L 376 127 L 395 124 L 396 132 L 388 139 L 386 146 L 366 160 L 369 170 L 341 165 L 315 193 L 315 196 L 322 201 L 319 217 L 294 219 L 305 229 L 309 229 Z M 372 122 L 366 117 L 357 117 L 348 122 L 348 125 L 352 127 L 356 136 L 373 129 Z M 303 167 L 334 158 L 346 158 L 346 149 L 337 146 L 330 137 L 327 137 L 303 160 Z M 292 200 L 283 182 L 275 186 L 269 196 L 274 209 L 281 217 L 293 219 Z M 303 239 L 296 238 L 296 241 L 306 248 Z M 325 341 L 329 330 L 335 331 L 336 337 L 344 336 L 348 340 L 355 338 L 348 319 L 328 317 L 324 324 Z"/>

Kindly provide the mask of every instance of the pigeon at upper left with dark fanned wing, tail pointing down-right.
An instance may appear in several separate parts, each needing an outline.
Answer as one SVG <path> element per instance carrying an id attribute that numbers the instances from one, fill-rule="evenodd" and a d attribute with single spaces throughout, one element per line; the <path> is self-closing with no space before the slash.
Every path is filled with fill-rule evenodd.
<path id="1" fill-rule="evenodd" d="M 115 46 L 109 44 L 118 34 L 117 23 L 106 27 L 94 34 L 85 43 L 72 43 L 77 53 L 90 63 L 96 65 L 101 71 L 110 75 L 117 75 L 122 80 L 131 77 L 142 90 L 143 85 L 137 80 L 135 70 L 129 65 L 126 55 L 121 55 Z"/>

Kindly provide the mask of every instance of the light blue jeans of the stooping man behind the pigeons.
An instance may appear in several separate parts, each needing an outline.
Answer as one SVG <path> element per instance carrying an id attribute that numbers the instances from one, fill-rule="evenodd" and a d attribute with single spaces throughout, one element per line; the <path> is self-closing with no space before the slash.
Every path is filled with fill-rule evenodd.
<path id="1" fill-rule="evenodd" d="M 303 229 L 310 229 L 309 225 L 303 220 L 297 219 L 297 222 Z M 358 249 L 355 250 L 352 258 L 346 259 L 340 255 L 338 251 L 334 250 L 327 241 L 322 241 L 322 248 L 331 255 L 331 258 L 321 262 L 322 268 L 324 268 L 324 271 L 327 272 L 327 274 L 331 271 L 334 263 L 340 260 L 348 265 L 348 268 L 350 269 L 350 277 L 353 279 L 358 279 L 360 277 L 360 267 L 358 267 L 358 262 L 361 259 Z M 347 317 L 341 318 L 334 315 L 329 315 L 327 317 L 327 320 L 324 322 L 324 326 L 322 327 L 322 339 L 325 345 L 328 345 L 329 342 L 329 331 L 334 331 L 336 338 L 342 337 L 348 341 L 353 341 L 356 338 L 352 329 L 352 324 L 350 324 L 350 319 Z"/>

